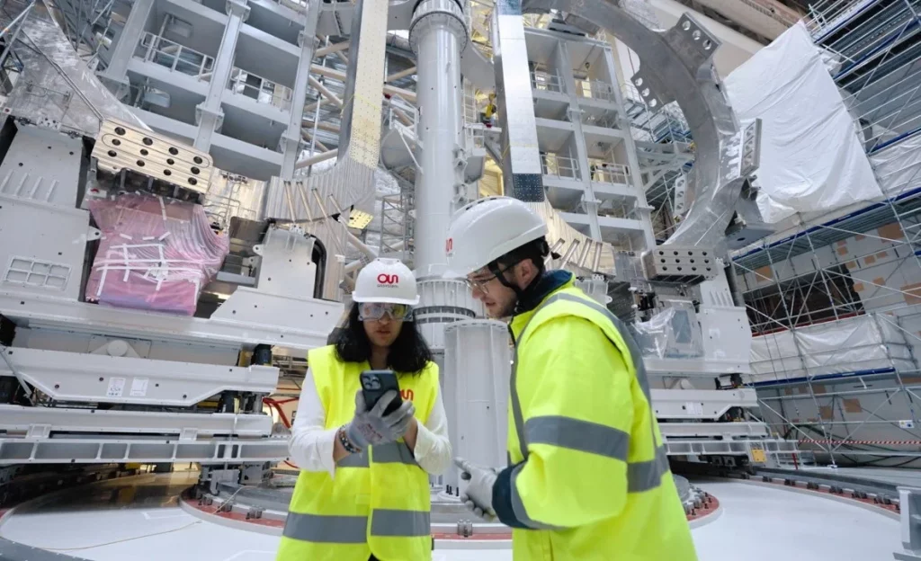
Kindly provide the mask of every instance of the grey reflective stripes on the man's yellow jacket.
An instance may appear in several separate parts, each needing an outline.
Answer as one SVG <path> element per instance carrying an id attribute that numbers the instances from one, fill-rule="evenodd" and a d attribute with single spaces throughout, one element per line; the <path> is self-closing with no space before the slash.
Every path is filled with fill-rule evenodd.
<path id="1" fill-rule="evenodd" d="M 620 321 L 616 316 L 614 316 L 614 314 L 611 313 L 611 310 L 608 310 L 593 300 L 578 298 L 571 294 L 556 294 L 550 298 L 547 298 L 537 308 L 537 310 L 534 310 L 530 320 L 525 323 L 524 328 L 522 328 L 521 333 L 519 333 L 519 336 L 515 341 L 515 356 L 514 362 L 512 363 L 511 379 L 509 380 L 509 391 L 511 397 L 512 415 L 515 419 L 515 431 L 519 439 L 521 457 L 524 460 L 528 459 L 529 443 L 542 443 L 552 444 L 554 446 L 559 446 L 561 448 L 570 450 L 581 450 L 589 453 L 600 454 L 602 456 L 608 456 L 610 458 L 626 462 L 630 437 L 624 433 L 624 431 L 621 431 L 617 428 L 604 427 L 603 425 L 589 423 L 588 421 L 579 421 L 577 419 L 562 416 L 534 417 L 529 419 L 527 424 L 524 423 L 524 415 L 521 412 L 521 402 L 519 401 L 517 386 L 519 343 L 522 339 L 524 339 L 524 334 L 527 332 L 530 322 L 533 321 L 535 317 L 537 317 L 538 312 L 540 312 L 544 307 L 549 306 L 558 300 L 566 300 L 588 306 L 592 310 L 596 310 L 604 314 L 604 316 L 612 322 L 614 329 L 620 333 L 621 338 L 624 339 L 624 344 L 627 346 L 627 350 L 630 352 L 630 358 L 634 363 L 634 368 L 636 371 L 636 380 L 639 382 L 640 388 L 642 389 L 643 394 L 646 396 L 647 402 L 650 405 L 649 412 L 650 421 L 652 421 L 651 426 L 655 427 L 655 418 L 652 417 L 652 401 L 649 393 L 649 381 L 647 380 L 646 367 L 643 365 L 643 356 L 639 350 L 639 347 L 636 346 L 633 337 L 624 327 L 624 323 Z M 612 344 L 614 344 L 613 341 Z M 653 443 L 656 441 L 654 428 L 652 441 Z M 511 458 L 509 457 L 509 462 L 510 461 Z M 667 472 L 668 469 L 668 455 L 664 447 L 659 447 L 656 450 L 656 455 L 653 460 L 648 462 L 628 463 L 628 491 L 636 493 L 656 488 L 659 486 L 662 474 Z M 513 484 L 513 507 L 516 506 L 516 501 L 521 508 L 521 513 L 519 513 L 518 508 L 516 508 L 516 516 L 521 514 L 525 517 L 521 518 L 521 520 L 530 520 L 530 518 L 527 518 L 527 512 L 524 511 L 524 506 L 521 503 L 520 497 L 518 496 L 517 487 Z"/>

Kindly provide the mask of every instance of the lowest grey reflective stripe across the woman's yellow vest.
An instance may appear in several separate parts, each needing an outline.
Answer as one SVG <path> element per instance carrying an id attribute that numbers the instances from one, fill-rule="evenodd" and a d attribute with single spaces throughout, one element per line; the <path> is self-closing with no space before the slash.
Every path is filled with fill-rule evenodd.
<path id="1" fill-rule="evenodd" d="M 371 535 L 412 538 L 431 532 L 428 512 L 381 508 L 371 515 Z M 286 538 L 314 543 L 366 543 L 366 516 L 323 516 L 288 512 Z"/>

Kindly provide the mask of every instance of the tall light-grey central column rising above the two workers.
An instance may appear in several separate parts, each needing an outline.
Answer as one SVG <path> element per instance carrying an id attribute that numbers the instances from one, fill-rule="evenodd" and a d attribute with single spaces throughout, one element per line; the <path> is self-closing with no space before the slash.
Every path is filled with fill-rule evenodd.
<path id="1" fill-rule="evenodd" d="M 440 276 L 446 269 L 445 239 L 451 200 L 459 178 L 461 51 L 468 41 L 461 2 L 424 0 L 416 6 L 409 41 L 417 57 L 416 102 L 422 141 L 415 180 L 414 267 L 416 276 Z"/>

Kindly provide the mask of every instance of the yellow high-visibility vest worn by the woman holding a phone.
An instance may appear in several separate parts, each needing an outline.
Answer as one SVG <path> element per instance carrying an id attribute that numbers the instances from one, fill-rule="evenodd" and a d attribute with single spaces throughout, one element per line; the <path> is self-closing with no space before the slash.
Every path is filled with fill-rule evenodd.
<path id="1" fill-rule="evenodd" d="M 326 410 L 324 427 L 355 415 L 358 376 L 366 363 L 338 359 L 335 347 L 309 351 L 308 364 Z M 438 367 L 398 374 L 402 398 L 425 424 L 438 392 Z M 327 472 L 301 471 L 288 507 L 277 561 L 417 561 L 432 558 L 428 474 L 402 438 L 346 456 Z"/>

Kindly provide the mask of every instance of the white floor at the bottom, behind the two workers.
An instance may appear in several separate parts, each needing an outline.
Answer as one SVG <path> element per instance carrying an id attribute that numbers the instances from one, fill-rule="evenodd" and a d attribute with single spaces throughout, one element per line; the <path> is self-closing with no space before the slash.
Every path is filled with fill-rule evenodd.
<path id="1" fill-rule="evenodd" d="M 187 476 L 172 478 L 188 485 Z M 694 530 L 701 561 L 892 558 L 899 523 L 828 498 L 742 483 L 703 483 L 718 497 L 718 520 Z M 153 479 L 102 485 L 92 495 L 64 494 L 23 508 L 0 524 L 0 536 L 92 561 L 272 561 L 278 538 L 198 520 Z M 175 487 L 174 487 L 175 488 Z M 436 551 L 435 561 L 510 561 L 508 550 Z"/>

